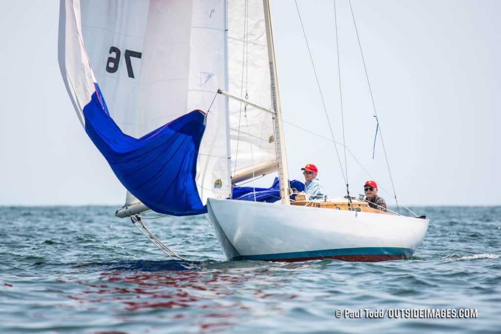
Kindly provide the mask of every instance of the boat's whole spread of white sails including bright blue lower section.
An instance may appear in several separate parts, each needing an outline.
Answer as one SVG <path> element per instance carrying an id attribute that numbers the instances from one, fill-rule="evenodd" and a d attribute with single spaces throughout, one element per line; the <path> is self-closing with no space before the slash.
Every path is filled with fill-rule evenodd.
<path id="1" fill-rule="evenodd" d="M 61 0 L 59 62 L 77 115 L 149 208 L 205 212 L 207 197 L 231 196 L 231 175 L 274 170 L 271 115 L 215 95 L 271 109 L 263 13 L 259 0 Z"/>

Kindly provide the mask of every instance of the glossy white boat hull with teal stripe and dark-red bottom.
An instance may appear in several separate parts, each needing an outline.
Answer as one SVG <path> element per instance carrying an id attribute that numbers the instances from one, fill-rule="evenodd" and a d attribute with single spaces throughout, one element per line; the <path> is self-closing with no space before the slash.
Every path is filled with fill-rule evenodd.
<path id="1" fill-rule="evenodd" d="M 390 214 L 211 198 L 207 209 L 229 260 L 408 258 L 429 223 Z"/>

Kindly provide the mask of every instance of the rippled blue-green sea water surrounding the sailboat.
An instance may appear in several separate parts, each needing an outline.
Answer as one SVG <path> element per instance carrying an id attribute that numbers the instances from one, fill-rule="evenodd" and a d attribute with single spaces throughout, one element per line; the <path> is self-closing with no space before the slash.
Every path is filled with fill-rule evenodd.
<path id="1" fill-rule="evenodd" d="M 231 262 L 203 216 L 144 220 L 174 261 L 115 209 L 0 207 L 0 333 L 501 332 L 501 207 L 411 208 L 421 247 L 377 263 Z"/>

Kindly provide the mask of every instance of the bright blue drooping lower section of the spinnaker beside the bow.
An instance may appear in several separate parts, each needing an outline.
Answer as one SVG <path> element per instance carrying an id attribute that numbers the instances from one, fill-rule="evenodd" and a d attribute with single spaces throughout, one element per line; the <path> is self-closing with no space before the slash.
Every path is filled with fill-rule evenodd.
<path id="1" fill-rule="evenodd" d="M 185 114 L 141 138 L 124 134 L 96 84 L 84 107 L 85 131 L 120 182 L 148 208 L 175 216 L 207 212 L 195 184 L 205 114 Z"/>

